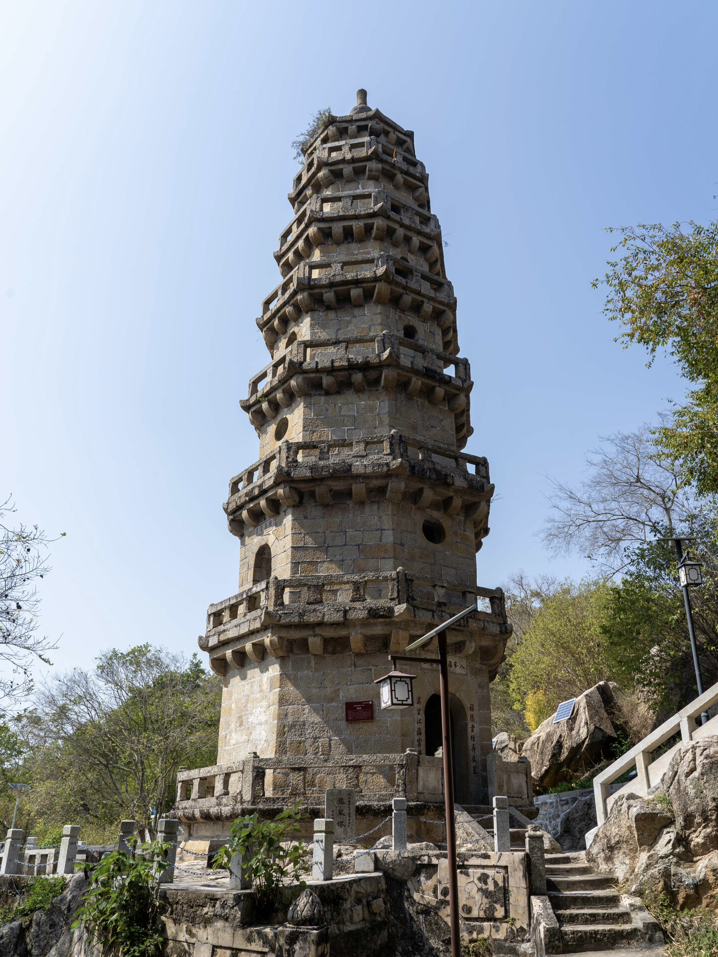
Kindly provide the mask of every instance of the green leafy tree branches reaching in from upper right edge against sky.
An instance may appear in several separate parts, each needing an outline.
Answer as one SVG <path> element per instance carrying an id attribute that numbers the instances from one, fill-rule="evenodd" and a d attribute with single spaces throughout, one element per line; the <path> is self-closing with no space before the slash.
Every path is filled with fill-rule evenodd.
<path id="1" fill-rule="evenodd" d="M 619 339 L 649 355 L 665 349 L 696 388 L 662 427 L 661 440 L 703 495 L 718 493 L 718 222 L 621 227 L 604 278 L 604 313 Z M 595 279 L 594 286 L 599 280 Z"/>

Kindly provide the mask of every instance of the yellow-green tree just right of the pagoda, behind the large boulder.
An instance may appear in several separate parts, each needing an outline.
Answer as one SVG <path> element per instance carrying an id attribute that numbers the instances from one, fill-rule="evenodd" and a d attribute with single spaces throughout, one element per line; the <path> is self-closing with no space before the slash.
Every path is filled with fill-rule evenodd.
<path id="1" fill-rule="evenodd" d="M 563 582 L 534 616 L 511 658 L 514 707 L 533 730 L 561 701 L 611 677 L 602 631 L 609 587 L 602 581 Z"/>

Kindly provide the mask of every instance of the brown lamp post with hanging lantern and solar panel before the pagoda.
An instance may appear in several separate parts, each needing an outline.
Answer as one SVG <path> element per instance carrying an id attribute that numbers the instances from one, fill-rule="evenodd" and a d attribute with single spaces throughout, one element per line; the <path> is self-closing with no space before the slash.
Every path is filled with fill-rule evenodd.
<path id="1" fill-rule="evenodd" d="M 449 618 L 443 625 L 439 625 L 434 631 L 424 634 L 417 638 L 411 645 L 407 645 L 408 652 L 415 651 L 431 641 L 433 637 L 437 638 L 438 658 L 417 658 L 402 655 L 390 655 L 393 671 L 384 678 L 376 679 L 381 692 L 382 708 L 385 707 L 412 707 L 414 704 L 414 694 L 411 688 L 413 675 L 403 675 L 396 671 L 396 661 L 416 661 L 417 663 L 438 664 L 438 687 L 441 698 L 441 748 L 443 755 L 444 771 L 444 808 L 446 814 L 446 863 L 449 872 L 449 926 L 451 928 L 451 957 L 460 957 L 460 924 L 459 924 L 459 879 L 457 877 L 457 826 L 454 816 L 454 763 L 451 753 L 451 717 L 449 714 L 449 663 L 446 657 L 446 632 L 451 625 L 456 624 L 467 614 L 476 612 L 476 606 L 466 608 L 463 612 L 455 614 Z M 409 684 L 408 694 L 400 690 L 401 681 Z M 398 695 L 403 697 L 399 699 L 393 694 L 393 684 L 399 685 Z M 390 703 L 385 704 L 384 701 Z M 392 701 L 401 701 L 401 703 L 391 703 Z"/>

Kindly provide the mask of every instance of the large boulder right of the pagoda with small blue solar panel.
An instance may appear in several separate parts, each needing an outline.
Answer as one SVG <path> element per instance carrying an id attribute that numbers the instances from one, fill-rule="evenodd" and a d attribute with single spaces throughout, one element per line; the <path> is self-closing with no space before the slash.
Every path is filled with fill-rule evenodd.
<path id="1" fill-rule="evenodd" d="M 616 689 L 612 681 L 600 681 L 576 698 L 570 718 L 554 724 L 551 715 L 524 742 L 521 754 L 531 762 L 535 787 L 552 788 L 610 756 L 619 730 L 612 717 Z"/>

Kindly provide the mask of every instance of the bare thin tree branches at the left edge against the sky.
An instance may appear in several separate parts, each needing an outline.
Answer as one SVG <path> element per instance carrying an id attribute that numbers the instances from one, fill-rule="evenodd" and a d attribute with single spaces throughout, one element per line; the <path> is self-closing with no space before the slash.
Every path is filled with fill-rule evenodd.
<path id="1" fill-rule="evenodd" d="M 0 711 L 32 691 L 34 660 L 50 664 L 47 652 L 56 647 L 37 634 L 37 581 L 51 570 L 48 546 L 55 540 L 37 525 L 11 528 L 6 516 L 14 511 L 10 498 L 0 504 Z"/>

